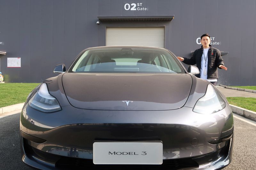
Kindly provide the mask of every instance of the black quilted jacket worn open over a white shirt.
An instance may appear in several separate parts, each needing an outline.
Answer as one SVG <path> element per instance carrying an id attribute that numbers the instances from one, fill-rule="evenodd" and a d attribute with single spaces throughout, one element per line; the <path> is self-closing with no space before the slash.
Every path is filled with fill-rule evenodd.
<path id="1" fill-rule="evenodd" d="M 209 46 L 210 46 L 210 49 L 208 50 L 207 79 L 218 79 L 219 76 L 218 76 L 217 67 L 219 67 L 220 65 L 224 66 L 224 62 L 220 55 L 220 50 L 213 48 L 211 45 Z M 188 65 L 196 64 L 196 67 L 199 70 L 201 70 L 201 60 L 202 60 L 203 50 L 204 49 L 202 46 L 192 54 L 192 57 L 190 59 L 184 58 L 182 62 Z M 200 78 L 200 74 L 197 74 L 196 77 Z"/>

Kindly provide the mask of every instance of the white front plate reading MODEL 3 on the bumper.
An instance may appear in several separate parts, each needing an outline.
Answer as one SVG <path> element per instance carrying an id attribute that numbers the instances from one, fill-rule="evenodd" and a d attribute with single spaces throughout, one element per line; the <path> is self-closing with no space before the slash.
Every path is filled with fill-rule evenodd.
<path id="1" fill-rule="evenodd" d="M 162 142 L 94 142 L 94 164 L 163 163 Z"/>

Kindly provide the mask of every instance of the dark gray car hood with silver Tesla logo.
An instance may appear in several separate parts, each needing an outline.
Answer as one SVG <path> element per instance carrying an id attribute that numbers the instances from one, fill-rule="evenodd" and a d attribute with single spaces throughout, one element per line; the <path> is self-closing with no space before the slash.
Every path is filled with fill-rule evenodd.
<path id="1" fill-rule="evenodd" d="M 69 103 L 80 109 L 173 110 L 186 103 L 192 78 L 189 74 L 65 73 L 62 83 Z"/>

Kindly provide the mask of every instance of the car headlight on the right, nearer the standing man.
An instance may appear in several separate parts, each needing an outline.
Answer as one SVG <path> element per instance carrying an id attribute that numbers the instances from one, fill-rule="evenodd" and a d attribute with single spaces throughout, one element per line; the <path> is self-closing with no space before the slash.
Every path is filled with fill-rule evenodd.
<path id="1" fill-rule="evenodd" d="M 201 97 L 193 108 L 193 111 L 201 114 L 212 114 L 226 107 L 220 94 L 214 90 L 211 84 L 208 84 L 205 95 Z"/>

